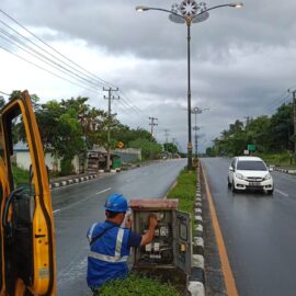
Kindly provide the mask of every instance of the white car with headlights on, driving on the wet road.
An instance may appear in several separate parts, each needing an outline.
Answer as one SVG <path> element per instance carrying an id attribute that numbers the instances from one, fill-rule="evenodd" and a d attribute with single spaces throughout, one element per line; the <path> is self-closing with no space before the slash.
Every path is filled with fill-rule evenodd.
<path id="1" fill-rule="evenodd" d="M 273 193 L 272 175 L 265 162 L 259 157 L 235 157 L 227 179 L 232 192 L 257 190 Z"/>

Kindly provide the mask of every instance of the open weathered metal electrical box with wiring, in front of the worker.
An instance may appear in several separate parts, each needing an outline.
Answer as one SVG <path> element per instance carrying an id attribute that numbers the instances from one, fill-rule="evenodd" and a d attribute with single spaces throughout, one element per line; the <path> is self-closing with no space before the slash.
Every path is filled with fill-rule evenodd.
<path id="1" fill-rule="evenodd" d="M 134 267 L 180 267 L 186 274 L 191 272 L 191 219 L 190 214 L 177 210 L 178 203 L 179 200 L 130 200 L 135 232 L 145 235 L 150 214 L 158 218 L 153 240 L 135 249 Z"/>

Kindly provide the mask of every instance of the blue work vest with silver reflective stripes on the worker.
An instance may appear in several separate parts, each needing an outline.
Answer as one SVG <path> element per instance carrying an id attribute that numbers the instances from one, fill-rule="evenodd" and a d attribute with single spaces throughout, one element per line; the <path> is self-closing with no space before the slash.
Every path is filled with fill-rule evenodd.
<path id="1" fill-rule="evenodd" d="M 100 235 L 102 236 L 91 243 Z M 128 274 L 129 249 L 140 246 L 141 236 L 105 220 L 93 224 L 87 237 L 90 241 L 87 276 L 89 287 L 98 288 L 109 280 L 124 278 Z"/>

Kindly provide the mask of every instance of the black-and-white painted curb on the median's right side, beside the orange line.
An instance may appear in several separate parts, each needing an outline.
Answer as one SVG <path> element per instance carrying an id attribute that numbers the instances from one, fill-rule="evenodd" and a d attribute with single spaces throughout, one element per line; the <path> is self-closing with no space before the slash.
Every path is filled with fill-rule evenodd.
<path id="1" fill-rule="evenodd" d="M 194 206 L 194 232 L 192 243 L 192 270 L 187 289 L 192 296 L 205 296 L 205 260 L 203 239 L 203 200 L 201 193 L 200 166 L 197 169 L 197 185 Z"/>

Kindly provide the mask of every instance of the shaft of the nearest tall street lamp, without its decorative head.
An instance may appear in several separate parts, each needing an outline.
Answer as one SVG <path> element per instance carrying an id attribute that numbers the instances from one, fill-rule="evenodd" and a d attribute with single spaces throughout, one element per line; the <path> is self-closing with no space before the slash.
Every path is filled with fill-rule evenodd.
<path id="1" fill-rule="evenodd" d="M 189 80 L 189 90 L 187 90 L 187 111 L 189 111 L 189 145 L 187 145 L 187 170 L 192 170 L 192 140 L 191 140 L 191 65 L 190 65 L 190 27 L 191 19 L 186 19 L 187 25 L 187 80 Z"/>

